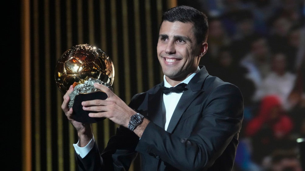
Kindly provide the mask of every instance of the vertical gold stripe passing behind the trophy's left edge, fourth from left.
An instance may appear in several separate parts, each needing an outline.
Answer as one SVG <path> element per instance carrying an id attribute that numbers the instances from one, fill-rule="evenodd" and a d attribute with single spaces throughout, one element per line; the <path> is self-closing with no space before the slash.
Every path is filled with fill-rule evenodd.
<path id="1" fill-rule="evenodd" d="M 60 2 L 59 0 L 55 1 L 55 36 L 56 36 L 56 57 L 54 60 L 58 60 L 61 55 L 61 36 L 60 36 Z M 51 78 L 51 80 L 54 80 Z M 58 171 L 64 170 L 64 158 L 63 158 L 63 111 L 61 110 L 61 104 L 63 95 L 60 93 L 59 90 L 56 91 L 56 113 L 57 113 L 57 147 L 58 147 Z"/>

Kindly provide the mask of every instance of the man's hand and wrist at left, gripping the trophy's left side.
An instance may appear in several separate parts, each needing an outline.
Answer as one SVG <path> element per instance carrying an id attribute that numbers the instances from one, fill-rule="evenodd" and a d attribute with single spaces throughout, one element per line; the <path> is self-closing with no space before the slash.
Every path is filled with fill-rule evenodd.
<path id="1" fill-rule="evenodd" d="M 73 109 L 68 107 L 69 101 L 70 101 L 70 93 L 74 90 L 74 86 L 71 85 L 69 87 L 69 90 L 66 92 L 66 94 L 63 96 L 63 104 L 61 105 L 61 108 L 65 112 L 68 120 L 71 122 L 71 124 L 74 126 L 74 128 L 77 131 L 78 139 L 79 139 L 79 146 L 84 147 L 88 144 L 88 142 L 92 139 L 92 131 L 91 131 L 91 125 L 90 124 L 83 124 L 81 122 L 77 122 L 73 119 Z"/>

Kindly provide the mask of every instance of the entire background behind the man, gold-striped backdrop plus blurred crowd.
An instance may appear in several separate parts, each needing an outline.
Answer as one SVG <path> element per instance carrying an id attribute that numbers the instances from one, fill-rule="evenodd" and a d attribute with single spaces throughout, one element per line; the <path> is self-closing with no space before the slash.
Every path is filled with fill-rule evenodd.
<path id="1" fill-rule="evenodd" d="M 114 63 L 114 92 L 129 103 L 163 79 L 158 27 L 162 12 L 176 5 L 206 13 L 209 46 L 200 64 L 242 91 L 245 112 L 234 171 L 302 170 L 297 142 L 305 138 L 302 0 L 8 2 L 1 41 L 2 83 L 10 83 L 2 84 L 4 170 L 76 170 L 77 136 L 60 108 L 57 60 L 77 44 L 101 48 Z M 93 124 L 100 148 L 116 127 L 108 119 Z M 130 170 L 139 170 L 138 162 Z"/>

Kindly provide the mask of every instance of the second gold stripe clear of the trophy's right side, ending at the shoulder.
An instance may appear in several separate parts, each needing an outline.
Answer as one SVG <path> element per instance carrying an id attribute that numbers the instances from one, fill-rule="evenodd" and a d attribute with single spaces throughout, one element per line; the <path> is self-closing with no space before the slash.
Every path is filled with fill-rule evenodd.
<path id="1" fill-rule="evenodd" d="M 142 48 L 141 48 L 141 25 L 140 25 L 140 12 L 139 0 L 134 0 L 134 23 L 135 23 L 135 58 L 136 58 L 136 74 L 137 74 L 137 93 L 143 92 L 142 82 Z"/>

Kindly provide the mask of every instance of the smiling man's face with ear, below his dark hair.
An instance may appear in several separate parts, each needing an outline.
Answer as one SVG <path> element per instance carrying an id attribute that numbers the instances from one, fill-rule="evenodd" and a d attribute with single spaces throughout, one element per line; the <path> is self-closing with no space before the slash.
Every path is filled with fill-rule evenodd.
<path id="1" fill-rule="evenodd" d="M 192 23 L 168 21 L 162 23 L 157 54 L 169 83 L 170 80 L 182 81 L 196 71 L 200 57 L 206 53 L 206 50 L 206 43 L 196 42 Z"/>

